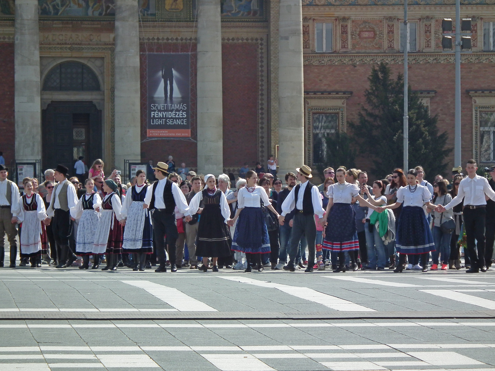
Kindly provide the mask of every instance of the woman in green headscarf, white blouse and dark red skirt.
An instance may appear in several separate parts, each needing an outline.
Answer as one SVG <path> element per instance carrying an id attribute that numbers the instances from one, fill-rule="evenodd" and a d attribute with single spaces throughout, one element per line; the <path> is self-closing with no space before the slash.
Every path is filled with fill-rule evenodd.
<path id="1" fill-rule="evenodd" d="M 101 217 L 95 233 L 93 244 L 93 255 L 95 259 L 105 254 L 106 267 L 102 271 L 115 271 L 118 264 L 118 254 L 122 252 L 122 224 L 120 224 L 120 196 L 117 193 L 117 184 L 111 179 L 107 179 L 102 186 L 106 196 L 103 197 L 101 205 Z M 97 254 L 97 256 L 95 256 Z"/>

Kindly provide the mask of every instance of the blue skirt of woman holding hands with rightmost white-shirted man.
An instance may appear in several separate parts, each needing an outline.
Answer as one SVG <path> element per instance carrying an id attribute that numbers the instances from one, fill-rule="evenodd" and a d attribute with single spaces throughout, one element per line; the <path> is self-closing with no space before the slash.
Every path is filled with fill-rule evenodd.
<path id="1" fill-rule="evenodd" d="M 405 206 L 397 222 L 396 250 L 401 254 L 424 254 L 435 251 L 430 225 L 423 208 Z"/>

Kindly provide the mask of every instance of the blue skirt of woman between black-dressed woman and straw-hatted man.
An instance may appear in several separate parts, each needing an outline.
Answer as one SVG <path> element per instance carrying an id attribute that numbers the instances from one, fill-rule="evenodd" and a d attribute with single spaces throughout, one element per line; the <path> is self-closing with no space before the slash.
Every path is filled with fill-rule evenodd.
<path id="1" fill-rule="evenodd" d="M 258 254 L 270 252 L 270 237 L 261 207 L 245 207 L 239 214 L 232 250 Z"/>

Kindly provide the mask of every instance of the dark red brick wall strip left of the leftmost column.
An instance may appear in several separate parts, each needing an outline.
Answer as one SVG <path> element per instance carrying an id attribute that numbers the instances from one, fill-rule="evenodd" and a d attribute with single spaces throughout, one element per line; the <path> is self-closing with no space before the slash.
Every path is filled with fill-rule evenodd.
<path id="1" fill-rule="evenodd" d="M 14 43 L 0 43 L 0 151 L 5 164 L 15 157 Z"/>

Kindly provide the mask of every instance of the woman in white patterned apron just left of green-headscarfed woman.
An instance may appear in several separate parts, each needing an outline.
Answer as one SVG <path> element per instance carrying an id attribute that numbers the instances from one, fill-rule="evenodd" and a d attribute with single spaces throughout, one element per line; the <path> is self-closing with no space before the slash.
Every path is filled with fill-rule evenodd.
<path id="1" fill-rule="evenodd" d="M 99 209 L 101 207 L 101 198 L 95 192 L 95 181 L 91 178 L 86 179 L 86 193 L 81 196 L 77 205 L 70 209 L 70 215 L 74 219 L 79 219 L 76 239 L 76 255 L 82 256 L 83 264 L 79 269 L 88 269 L 90 264 L 90 255 L 93 254 L 93 243 L 95 242 L 95 233 L 99 225 Z M 95 255 L 98 257 L 98 255 Z M 99 266 L 98 258 L 94 258 L 92 269 Z"/>

